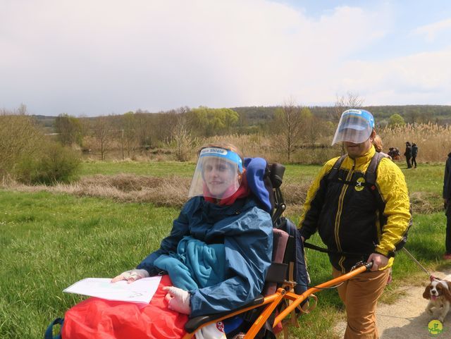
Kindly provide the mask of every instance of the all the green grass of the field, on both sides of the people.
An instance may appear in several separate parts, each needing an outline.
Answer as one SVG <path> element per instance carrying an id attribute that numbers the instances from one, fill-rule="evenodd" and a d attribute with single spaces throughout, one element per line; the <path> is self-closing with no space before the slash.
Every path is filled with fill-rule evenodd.
<path id="1" fill-rule="evenodd" d="M 401 165 L 402 166 L 402 165 Z M 84 175 L 135 173 L 189 177 L 194 164 L 83 163 Z M 287 166 L 285 182 L 311 180 L 319 166 Z M 443 164 L 403 169 L 410 192 L 440 198 Z M 109 277 L 134 267 L 159 247 L 178 210 L 111 199 L 0 190 L 0 338 L 42 338 L 47 325 L 83 297 L 62 290 L 86 277 Z M 290 216 L 297 219 L 298 216 Z M 445 216 L 415 214 L 407 248 L 428 269 L 450 269 L 441 261 Z M 318 237 L 313 242 L 319 243 Z M 312 283 L 330 279 L 326 254 L 307 250 Z M 404 253 L 397 256 L 395 283 L 421 283 L 427 276 Z M 299 338 L 335 338 L 342 304 L 334 290 L 318 293 L 318 307 L 302 316 Z"/>

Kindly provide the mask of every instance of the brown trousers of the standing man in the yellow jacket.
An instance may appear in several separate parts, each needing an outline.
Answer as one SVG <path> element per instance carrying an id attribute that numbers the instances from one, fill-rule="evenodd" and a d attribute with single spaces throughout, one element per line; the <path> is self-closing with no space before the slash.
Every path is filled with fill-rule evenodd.
<path id="1" fill-rule="evenodd" d="M 360 273 L 338 287 L 345 304 L 347 326 L 344 339 L 378 339 L 376 306 L 387 284 L 389 269 Z M 333 277 L 342 273 L 333 268 Z"/>

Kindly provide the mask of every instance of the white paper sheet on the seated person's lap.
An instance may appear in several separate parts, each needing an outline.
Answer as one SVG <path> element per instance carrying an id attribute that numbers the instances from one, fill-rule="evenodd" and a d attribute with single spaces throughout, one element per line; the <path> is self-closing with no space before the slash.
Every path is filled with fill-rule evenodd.
<path id="1" fill-rule="evenodd" d="M 111 283 L 111 278 L 86 278 L 70 285 L 63 292 L 89 295 L 106 300 L 149 304 L 160 280 L 161 276 L 153 276 L 138 279 L 133 283 L 127 283 L 127 281 Z"/>

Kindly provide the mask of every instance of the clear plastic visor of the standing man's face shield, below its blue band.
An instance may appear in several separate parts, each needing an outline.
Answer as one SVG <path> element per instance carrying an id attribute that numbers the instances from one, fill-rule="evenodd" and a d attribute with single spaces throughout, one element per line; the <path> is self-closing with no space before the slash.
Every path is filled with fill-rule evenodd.
<path id="1" fill-rule="evenodd" d="M 333 137 L 332 144 L 338 142 L 353 142 L 360 144 L 371 136 L 373 128 L 369 122 L 360 116 L 342 116 Z"/>

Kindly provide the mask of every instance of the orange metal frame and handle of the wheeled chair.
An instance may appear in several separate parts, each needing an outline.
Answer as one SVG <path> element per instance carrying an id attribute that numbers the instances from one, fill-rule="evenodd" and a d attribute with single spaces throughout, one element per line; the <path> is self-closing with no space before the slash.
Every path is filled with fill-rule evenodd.
<path id="1" fill-rule="evenodd" d="M 240 311 L 231 312 L 230 314 L 227 314 L 226 316 L 221 316 L 221 318 L 215 319 L 214 321 L 209 321 L 208 323 L 204 323 L 199 328 L 207 326 L 211 323 L 216 323 L 217 321 L 223 321 L 224 319 L 231 318 L 233 316 L 236 316 L 237 314 L 242 314 L 251 309 L 255 309 L 257 307 L 267 305 L 266 308 L 264 309 L 264 311 L 261 312 L 261 314 L 259 315 L 257 320 L 254 321 L 251 328 L 249 328 L 249 331 L 247 331 L 247 333 L 244 337 L 245 339 L 253 339 L 253 338 L 255 338 L 257 333 L 259 333 L 261 327 L 264 325 L 266 320 L 268 320 L 268 317 L 271 316 L 273 310 L 276 309 L 277 305 L 283 299 L 287 299 L 292 302 L 290 305 L 288 305 L 288 307 L 283 309 L 283 311 L 280 312 L 280 314 L 278 314 L 278 316 L 276 316 L 276 319 L 274 320 L 274 323 L 273 323 L 273 327 L 276 326 L 278 323 L 280 323 L 280 321 L 285 319 L 285 317 L 288 316 L 288 314 L 293 312 L 296 309 L 296 307 L 299 306 L 299 304 L 301 304 L 304 300 L 307 299 L 307 297 L 309 297 L 309 295 L 313 294 L 314 292 L 320 291 L 322 288 L 329 288 L 330 286 L 337 285 L 339 283 L 342 283 L 343 281 L 347 281 L 350 278 L 357 276 L 358 274 L 366 271 L 366 269 L 367 269 L 366 266 L 360 266 L 359 268 L 354 269 L 353 271 L 350 271 L 349 273 L 343 274 L 342 276 L 339 276 L 338 278 L 334 278 L 330 281 L 326 281 L 326 283 L 321 283 L 320 285 L 316 285 L 313 288 L 309 288 L 301 295 L 297 295 L 296 293 L 293 293 L 293 292 L 287 292 L 287 291 L 285 291 L 284 288 L 279 288 L 276 291 L 276 293 L 274 293 L 273 295 L 268 295 L 267 297 L 265 297 L 264 302 L 262 302 L 261 304 L 246 307 L 245 309 L 240 309 Z M 199 328 L 197 328 L 197 329 L 199 329 Z M 192 333 L 186 333 L 185 336 L 183 337 L 183 339 L 193 338 L 194 333 L 195 333 L 195 331 Z"/>

